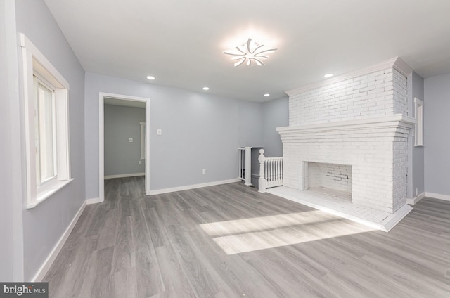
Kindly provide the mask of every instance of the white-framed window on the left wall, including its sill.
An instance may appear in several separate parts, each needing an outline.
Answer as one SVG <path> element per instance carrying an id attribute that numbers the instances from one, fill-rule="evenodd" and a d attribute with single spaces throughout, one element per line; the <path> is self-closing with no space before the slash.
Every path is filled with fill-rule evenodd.
<path id="1" fill-rule="evenodd" d="M 27 208 L 56 193 L 70 178 L 69 84 L 20 34 L 27 157 Z"/>

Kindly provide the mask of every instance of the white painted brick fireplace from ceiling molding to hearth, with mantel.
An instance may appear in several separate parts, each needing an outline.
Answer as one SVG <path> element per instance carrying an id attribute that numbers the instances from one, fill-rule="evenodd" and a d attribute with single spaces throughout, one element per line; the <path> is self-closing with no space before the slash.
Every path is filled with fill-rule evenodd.
<path id="1" fill-rule="evenodd" d="M 406 205 L 407 76 L 399 58 L 288 91 L 284 186 L 348 194 L 353 205 L 394 213 Z"/>

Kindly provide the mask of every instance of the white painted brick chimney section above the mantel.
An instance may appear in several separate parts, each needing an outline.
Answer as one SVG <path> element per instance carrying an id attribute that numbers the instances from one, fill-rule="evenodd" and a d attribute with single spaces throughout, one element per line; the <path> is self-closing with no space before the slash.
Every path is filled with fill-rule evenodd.
<path id="1" fill-rule="evenodd" d="M 406 77 L 393 67 L 289 98 L 289 126 L 407 115 Z"/>

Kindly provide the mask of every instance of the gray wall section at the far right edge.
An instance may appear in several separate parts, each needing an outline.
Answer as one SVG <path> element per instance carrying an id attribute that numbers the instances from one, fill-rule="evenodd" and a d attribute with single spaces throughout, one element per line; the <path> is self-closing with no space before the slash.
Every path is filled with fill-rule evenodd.
<path id="1" fill-rule="evenodd" d="M 425 79 L 425 191 L 450 195 L 450 74 Z"/>

